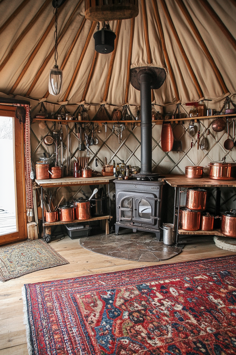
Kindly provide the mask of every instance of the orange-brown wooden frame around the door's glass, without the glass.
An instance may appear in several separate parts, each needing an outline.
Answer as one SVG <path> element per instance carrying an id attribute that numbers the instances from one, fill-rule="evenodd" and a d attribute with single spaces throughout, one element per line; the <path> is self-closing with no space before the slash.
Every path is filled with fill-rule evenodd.
<path id="1" fill-rule="evenodd" d="M 21 214 L 21 219 L 23 217 L 21 223 L 21 230 L 19 230 L 19 218 L 18 218 L 18 232 L 13 232 L 9 234 L 5 234 L 4 241 L 0 241 L 0 245 L 7 244 L 11 242 L 16 242 L 20 240 L 27 239 L 27 209 L 26 209 L 26 191 L 25 191 L 25 160 L 24 160 L 24 124 L 20 123 L 16 118 L 16 108 L 13 105 L 0 104 L 0 116 L 7 116 L 14 118 L 14 130 L 15 130 L 15 153 L 16 148 L 18 152 L 18 158 L 21 158 L 21 164 L 19 166 L 19 170 L 17 168 L 17 159 L 15 155 L 15 169 L 16 169 L 16 186 L 22 186 L 22 191 L 17 194 L 17 216 Z M 20 134 L 16 135 L 16 130 L 21 130 Z M 18 171 L 17 171 L 18 170 Z M 17 189 L 16 189 L 17 190 Z M 18 189 L 19 190 L 19 189 Z M 19 196 L 21 195 L 21 196 Z M 23 203 L 18 203 L 18 201 L 22 201 Z M 22 209 L 18 213 L 19 205 L 21 205 Z M 23 213 L 23 216 L 22 216 Z M 16 234 L 15 236 L 13 234 Z M 17 235 L 18 234 L 18 235 Z"/>

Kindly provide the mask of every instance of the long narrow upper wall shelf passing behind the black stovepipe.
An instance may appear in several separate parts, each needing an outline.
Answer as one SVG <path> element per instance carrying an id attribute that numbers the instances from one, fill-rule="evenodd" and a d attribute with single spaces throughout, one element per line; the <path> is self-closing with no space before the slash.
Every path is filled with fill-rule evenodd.
<path id="1" fill-rule="evenodd" d="M 236 113 L 235 114 L 231 114 L 231 115 L 215 115 L 215 116 L 201 116 L 201 117 L 187 117 L 187 118 L 181 118 L 181 119 L 170 119 L 168 121 L 170 122 L 180 122 L 180 121 L 189 121 L 189 120 L 205 120 L 205 119 L 210 119 L 210 118 L 217 118 L 217 117 L 236 117 Z M 44 118 L 33 118 L 32 123 L 35 123 L 37 121 L 51 121 L 51 122 L 57 122 L 58 124 L 63 124 L 63 125 L 67 125 L 69 123 L 105 123 L 107 122 L 108 124 L 117 124 L 117 122 L 120 123 L 124 123 L 124 124 L 128 124 L 128 123 L 140 123 L 141 121 L 138 120 L 132 120 L 132 121 L 69 121 L 69 120 L 51 120 L 51 119 L 44 119 Z M 162 125 L 162 122 L 164 120 L 154 120 L 152 121 L 153 123 L 155 123 L 156 125 Z"/>

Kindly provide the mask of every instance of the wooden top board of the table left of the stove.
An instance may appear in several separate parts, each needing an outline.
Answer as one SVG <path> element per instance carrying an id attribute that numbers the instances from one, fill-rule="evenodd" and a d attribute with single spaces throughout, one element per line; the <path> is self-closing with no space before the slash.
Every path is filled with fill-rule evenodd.
<path id="1" fill-rule="evenodd" d="M 36 184 L 42 187 L 46 186 L 71 186 L 71 185 L 98 185 L 109 184 L 115 180 L 114 176 L 94 176 L 92 178 L 73 178 L 73 176 L 66 176 L 61 179 L 35 179 Z"/>

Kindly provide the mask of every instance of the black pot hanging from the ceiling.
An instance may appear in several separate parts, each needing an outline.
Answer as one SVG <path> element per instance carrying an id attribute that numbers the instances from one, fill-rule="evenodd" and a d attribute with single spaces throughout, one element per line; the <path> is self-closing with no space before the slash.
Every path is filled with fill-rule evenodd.
<path id="1" fill-rule="evenodd" d="M 113 52 L 116 38 L 114 32 L 102 28 L 94 33 L 93 38 L 95 40 L 95 50 L 98 53 L 108 54 Z"/>

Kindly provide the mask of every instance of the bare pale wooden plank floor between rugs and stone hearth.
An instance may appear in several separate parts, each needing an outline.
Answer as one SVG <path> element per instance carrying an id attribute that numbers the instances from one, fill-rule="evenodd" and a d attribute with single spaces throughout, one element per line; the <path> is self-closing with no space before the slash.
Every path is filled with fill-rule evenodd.
<path id="1" fill-rule="evenodd" d="M 186 237 L 188 242 L 179 255 L 158 263 L 136 262 L 100 255 L 82 248 L 79 239 L 68 236 L 50 245 L 70 264 L 32 272 L 17 279 L 0 282 L 0 355 L 27 355 L 21 289 L 25 283 L 65 279 L 89 274 L 127 270 L 137 267 L 184 262 L 209 257 L 232 255 L 235 252 L 219 249 L 213 236 Z"/>

